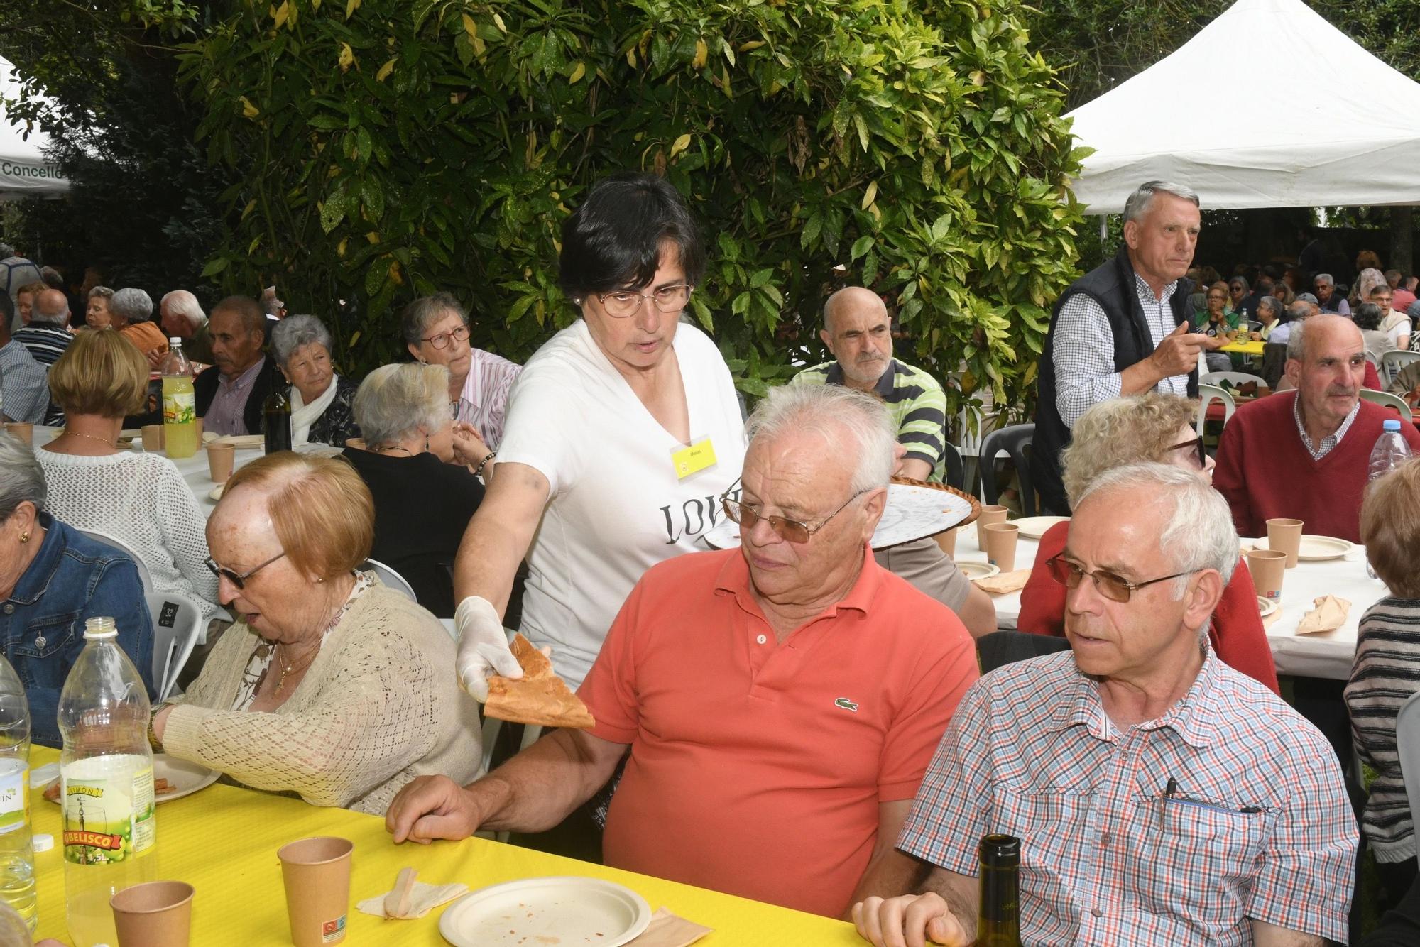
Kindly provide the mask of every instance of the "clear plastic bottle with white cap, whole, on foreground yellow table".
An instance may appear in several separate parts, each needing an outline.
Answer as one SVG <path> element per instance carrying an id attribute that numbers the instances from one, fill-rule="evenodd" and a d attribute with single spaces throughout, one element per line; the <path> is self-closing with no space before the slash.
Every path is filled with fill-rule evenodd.
<path id="1" fill-rule="evenodd" d="M 84 623 L 60 691 L 64 896 L 74 947 L 116 944 L 108 899 L 156 877 L 148 691 L 111 618 Z"/>

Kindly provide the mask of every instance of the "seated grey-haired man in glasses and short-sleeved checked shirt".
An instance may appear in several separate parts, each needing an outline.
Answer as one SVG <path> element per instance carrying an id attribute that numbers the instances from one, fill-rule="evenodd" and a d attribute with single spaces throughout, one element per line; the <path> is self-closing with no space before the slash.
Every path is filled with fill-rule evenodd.
<path id="1" fill-rule="evenodd" d="M 1132 464 L 1081 501 L 1051 574 L 1071 650 L 983 677 L 897 848 L 917 894 L 853 906 L 879 947 L 970 944 L 976 845 L 1021 839 L 1025 944 L 1346 940 L 1356 821 L 1326 740 L 1208 650 L 1238 558 L 1196 474 Z"/>

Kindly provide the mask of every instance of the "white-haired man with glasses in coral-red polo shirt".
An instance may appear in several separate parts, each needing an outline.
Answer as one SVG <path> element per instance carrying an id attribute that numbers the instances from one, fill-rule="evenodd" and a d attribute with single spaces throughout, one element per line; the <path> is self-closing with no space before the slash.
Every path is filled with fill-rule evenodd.
<path id="1" fill-rule="evenodd" d="M 415 779 L 396 842 L 537 832 L 626 757 L 608 865 L 829 916 L 910 883 L 893 848 L 966 689 L 957 616 L 873 561 L 895 432 L 839 385 L 775 389 L 747 425 L 740 549 L 652 566 L 558 730 L 460 788 Z"/>

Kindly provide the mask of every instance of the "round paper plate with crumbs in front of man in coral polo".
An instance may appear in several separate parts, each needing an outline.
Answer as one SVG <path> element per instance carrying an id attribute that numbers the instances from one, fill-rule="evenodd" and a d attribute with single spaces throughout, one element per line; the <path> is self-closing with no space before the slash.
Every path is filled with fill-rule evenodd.
<path id="1" fill-rule="evenodd" d="M 650 904 L 599 877 L 527 877 L 464 894 L 439 917 L 454 947 L 618 947 L 650 924 Z"/>

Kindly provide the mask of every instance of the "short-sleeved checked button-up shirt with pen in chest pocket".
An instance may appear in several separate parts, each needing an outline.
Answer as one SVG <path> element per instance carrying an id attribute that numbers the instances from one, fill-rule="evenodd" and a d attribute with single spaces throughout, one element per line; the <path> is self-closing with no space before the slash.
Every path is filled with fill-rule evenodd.
<path id="1" fill-rule="evenodd" d="M 1346 940 L 1356 821 L 1336 755 L 1211 650 L 1183 700 L 1125 731 L 1071 652 L 983 677 L 899 848 L 974 876 L 990 832 L 1021 838 L 1025 944 L 1251 944 L 1248 919 Z"/>

